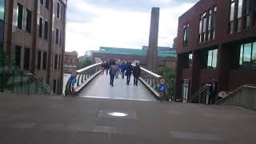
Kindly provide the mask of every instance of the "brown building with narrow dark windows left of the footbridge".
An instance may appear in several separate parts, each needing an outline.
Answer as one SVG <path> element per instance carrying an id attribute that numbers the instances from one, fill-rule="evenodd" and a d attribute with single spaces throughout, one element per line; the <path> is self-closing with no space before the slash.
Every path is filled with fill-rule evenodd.
<path id="1" fill-rule="evenodd" d="M 6 0 L 4 5 L 6 57 L 12 58 L 20 70 L 50 84 L 55 93 L 62 91 L 66 2 Z"/>

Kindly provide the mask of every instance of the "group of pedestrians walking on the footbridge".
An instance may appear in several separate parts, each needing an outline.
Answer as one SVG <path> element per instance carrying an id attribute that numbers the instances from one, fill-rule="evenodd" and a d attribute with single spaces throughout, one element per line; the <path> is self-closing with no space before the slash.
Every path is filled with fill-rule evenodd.
<path id="1" fill-rule="evenodd" d="M 114 86 L 114 78 L 124 79 L 126 76 L 126 85 L 130 85 L 130 77 L 134 75 L 134 85 L 138 86 L 138 77 L 141 75 L 141 68 L 138 63 L 132 66 L 131 62 L 124 62 L 120 60 L 111 59 L 102 62 L 102 74 L 110 74 L 110 86 Z"/>

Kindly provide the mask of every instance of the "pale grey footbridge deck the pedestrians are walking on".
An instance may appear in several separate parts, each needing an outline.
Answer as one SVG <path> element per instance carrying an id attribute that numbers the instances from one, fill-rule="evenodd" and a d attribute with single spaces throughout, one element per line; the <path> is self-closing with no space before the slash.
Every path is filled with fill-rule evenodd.
<path id="1" fill-rule="evenodd" d="M 99 75 L 78 95 L 86 98 L 156 101 L 154 95 L 146 89 L 142 82 L 138 82 L 138 86 L 134 86 L 134 77 L 131 76 L 130 85 L 127 86 L 126 78 L 122 79 L 121 75 L 118 79 L 114 79 L 114 87 L 110 86 L 110 75 Z"/>

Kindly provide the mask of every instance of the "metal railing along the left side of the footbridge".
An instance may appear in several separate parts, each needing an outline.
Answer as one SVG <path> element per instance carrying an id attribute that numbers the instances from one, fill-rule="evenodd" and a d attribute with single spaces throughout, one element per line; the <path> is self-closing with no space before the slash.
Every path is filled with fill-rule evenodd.
<path id="1" fill-rule="evenodd" d="M 77 83 L 76 87 L 73 89 L 71 85 L 71 76 L 69 80 L 65 83 L 65 95 L 76 94 L 79 90 L 82 90 L 94 77 L 96 77 L 101 72 L 102 63 L 96 63 L 94 65 L 87 66 L 81 70 L 76 70 L 77 73 Z"/>

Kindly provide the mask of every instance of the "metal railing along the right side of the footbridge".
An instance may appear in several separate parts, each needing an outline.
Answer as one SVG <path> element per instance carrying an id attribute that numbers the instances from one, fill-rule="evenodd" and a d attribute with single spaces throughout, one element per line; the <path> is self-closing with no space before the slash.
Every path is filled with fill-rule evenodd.
<path id="1" fill-rule="evenodd" d="M 135 65 L 133 64 L 133 66 Z M 139 79 L 144 83 L 144 85 L 146 85 L 146 87 L 151 92 L 154 93 L 156 98 L 162 99 L 162 95 L 158 92 L 158 86 L 160 85 L 160 80 L 163 79 L 162 76 L 159 74 L 155 74 L 150 70 L 146 70 L 143 67 L 141 67 L 141 70 L 142 70 L 142 74 Z M 165 84 L 165 87 L 166 87 L 166 84 Z M 167 93 L 167 90 L 166 90 L 166 93 Z"/>

